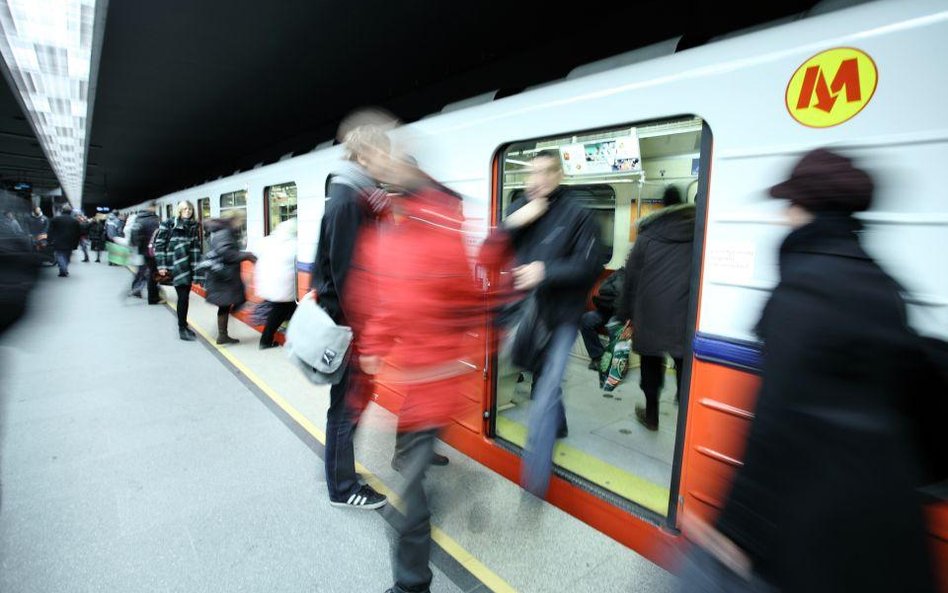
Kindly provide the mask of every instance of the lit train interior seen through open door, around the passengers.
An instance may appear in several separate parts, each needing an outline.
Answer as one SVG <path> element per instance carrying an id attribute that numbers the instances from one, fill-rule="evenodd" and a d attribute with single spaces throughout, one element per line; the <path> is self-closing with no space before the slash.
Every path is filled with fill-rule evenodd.
<path id="1" fill-rule="evenodd" d="M 592 211 L 599 223 L 604 280 L 625 265 L 639 222 L 662 208 L 667 186 L 674 185 L 686 200 L 694 201 L 704 129 L 702 120 L 681 117 L 510 144 L 497 155 L 497 217 L 502 219 L 526 191 L 533 156 L 553 151 L 563 165 L 569 199 Z M 592 311 L 591 299 L 588 302 Z M 621 327 L 619 320 L 613 323 Z M 607 346 L 613 327 L 587 330 L 585 338 Z M 679 417 L 670 360 L 665 359 L 667 374 L 659 395 L 659 430 L 651 431 L 635 415 L 636 405 L 645 403 L 639 356 L 629 354 L 625 376 L 609 387 L 593 368 L 584 336 L 576 336 L 562 384 L 569 432 L 557 441 L 553 456 L 562 475 L 598 488 L 604 496 L 617 495 L 659 515 L 667 513 Z M 495 365 L 494 435 L 524 447 L 531 374 L 501 356 Z"/>

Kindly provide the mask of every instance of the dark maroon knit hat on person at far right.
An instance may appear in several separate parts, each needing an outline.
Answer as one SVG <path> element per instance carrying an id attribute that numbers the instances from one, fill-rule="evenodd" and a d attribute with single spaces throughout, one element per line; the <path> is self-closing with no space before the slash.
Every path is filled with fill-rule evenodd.
<path id="1" fill-rule="evenodd" d="M 818 148 L 800 159 L 789 179 L 771 187 L 770 195 L 810 212 L 861 212 L 872 204 L 872 191 L 868 173 L 848 158 Z"/>

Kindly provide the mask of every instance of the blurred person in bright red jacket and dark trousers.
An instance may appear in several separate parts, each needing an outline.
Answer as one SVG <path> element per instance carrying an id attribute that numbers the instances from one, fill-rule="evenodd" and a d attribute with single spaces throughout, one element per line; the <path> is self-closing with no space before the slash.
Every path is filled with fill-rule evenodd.
<path id="1" fill-rule="evenodd" d="M 380 373 L 405 396 L 396 435 L 404 514 L 395 521 L 388 593 L 427 592 L 432 541 L 424 478 L 435 440 L 458 411 L 463 383 L 476 380 L 465 333 L 477 325 L 480 317 L 471 312 L 483 297 L 467 260 L 460 197 L 407 160 L 393 160 L 383 180 L 406 192 L 399 200 L 402 221 L 360 237 L 354 259 L 360 273 L 353 272 L 350 290 L 377 299 L 360 338 L 362 370 Z M 362 281 L 377 286 L 360 292 Z"/>

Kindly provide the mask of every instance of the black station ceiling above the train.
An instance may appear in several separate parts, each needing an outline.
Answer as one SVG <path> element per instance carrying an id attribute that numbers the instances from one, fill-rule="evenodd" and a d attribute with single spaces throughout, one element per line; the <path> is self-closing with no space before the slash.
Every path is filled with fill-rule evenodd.
<path id="1" fill-rule="evenodd" d="M 134 204 L 309 151 L 357 107 L 410 122 L 678 35 L 681 51 L 815 4 L 110 0 L 83 206 Z M 57 186 L 3 86 L 0 181 Z"/>

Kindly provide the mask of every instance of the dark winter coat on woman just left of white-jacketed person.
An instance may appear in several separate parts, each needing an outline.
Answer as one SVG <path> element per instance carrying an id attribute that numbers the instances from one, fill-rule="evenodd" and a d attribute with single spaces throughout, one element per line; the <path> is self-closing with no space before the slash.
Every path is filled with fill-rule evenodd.
<path id="1" fill-rule="evenodd" d="M 211 233 L 206 258 L 198 266 L 206 276 L 204 289 L 207 302 L 218 307 L 240 306 L 247 301 L 240 262 L 253 258 L 237 247 L 234 230 L 227 221 L 209 220 L 204 228 Z"/>

